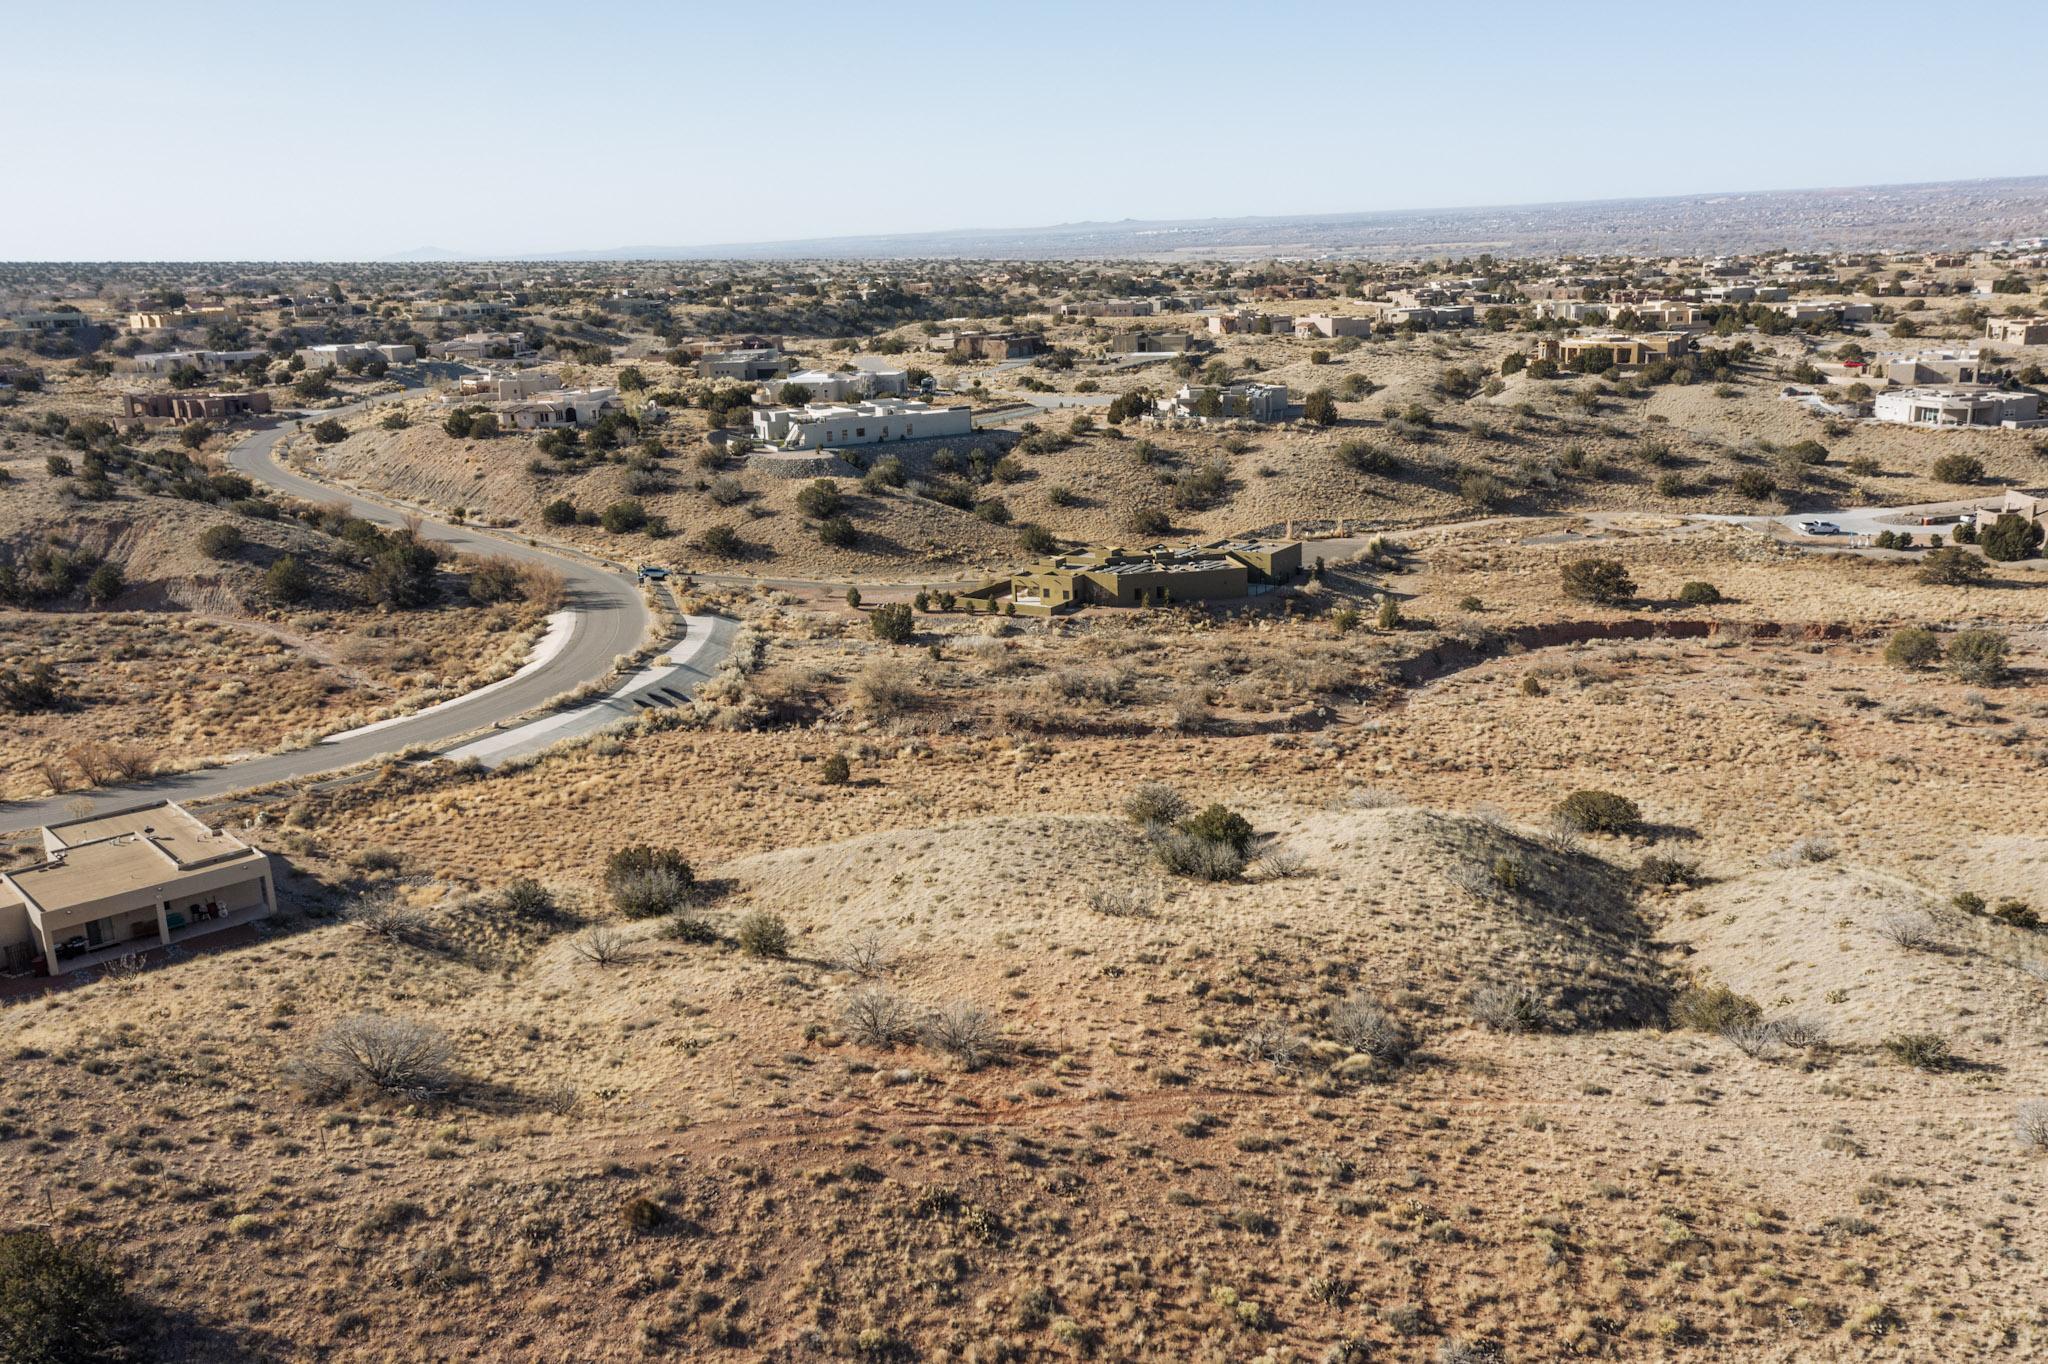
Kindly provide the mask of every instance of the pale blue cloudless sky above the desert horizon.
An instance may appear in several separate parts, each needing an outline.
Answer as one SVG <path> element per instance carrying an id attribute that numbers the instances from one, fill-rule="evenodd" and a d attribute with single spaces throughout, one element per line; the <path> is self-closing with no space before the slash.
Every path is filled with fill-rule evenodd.
<path id="1" fill-rule="evenodd" d="M 0 0 L 0 260 L 2042 174 L 2038 4 Z"/>

